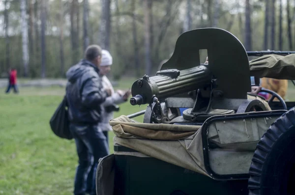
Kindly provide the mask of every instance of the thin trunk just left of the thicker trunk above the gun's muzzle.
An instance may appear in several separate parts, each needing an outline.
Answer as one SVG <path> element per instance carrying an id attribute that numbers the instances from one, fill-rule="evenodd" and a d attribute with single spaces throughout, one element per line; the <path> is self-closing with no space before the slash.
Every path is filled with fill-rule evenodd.
<path id="1" fill-rule="evenodd" d="M 135 18 L 135 3 L 136 0 L 132 0 L 131 2 L 131 10 L 133 13 L 132 16 L 132 34 L 133 34 L 133 45 L 134 45 L 134 70 L 135 70 L 135 76 L 140 77 L 140 62 L 139 62 L 139 47 L 137 42 L 137 27 L 136 27 L 136 18 Z"/>

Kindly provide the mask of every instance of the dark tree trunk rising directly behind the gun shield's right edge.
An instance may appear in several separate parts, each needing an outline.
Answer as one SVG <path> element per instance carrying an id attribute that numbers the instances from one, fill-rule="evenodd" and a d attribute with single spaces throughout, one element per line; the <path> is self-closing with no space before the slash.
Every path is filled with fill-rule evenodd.
<path id="1" fill-rule="evenodd" d="M 251 30 L 251 9 L 250 9 L 250 2 L 246 0 L 246 7 L 245 7 L 245 49 L 246 51 L 252 50 L 252 30 Z"/>

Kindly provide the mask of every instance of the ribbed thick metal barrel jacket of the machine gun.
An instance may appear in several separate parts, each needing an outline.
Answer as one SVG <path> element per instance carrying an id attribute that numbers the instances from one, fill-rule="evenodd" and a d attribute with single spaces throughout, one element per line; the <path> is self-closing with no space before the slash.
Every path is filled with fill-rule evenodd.
<path id="1" fill-rule="evenodd" d="M 175 74 L 174 74 L 175 75 Z M 148 104 L 156 96 L 163 100 L 180 93 L 189 92 L 211 84 L 211 72 L 205 65 L 181 70 L 179 76 L 158 74 L 135 81 L 131 87 L 132 105 Z"/>

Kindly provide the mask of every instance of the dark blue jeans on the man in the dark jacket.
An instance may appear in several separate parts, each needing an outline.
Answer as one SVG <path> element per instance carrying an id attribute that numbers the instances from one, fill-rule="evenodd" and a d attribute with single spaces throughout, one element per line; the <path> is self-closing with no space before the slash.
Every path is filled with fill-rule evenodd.
<path id="1" fill-rule="evenodd" d="M 74 195 L 96 195 L 95 174 L 98 160 L 110 153 L 106 137 L 98 125 L 70 124 L 70 131 L 75 139 L 79 157 Z"/>

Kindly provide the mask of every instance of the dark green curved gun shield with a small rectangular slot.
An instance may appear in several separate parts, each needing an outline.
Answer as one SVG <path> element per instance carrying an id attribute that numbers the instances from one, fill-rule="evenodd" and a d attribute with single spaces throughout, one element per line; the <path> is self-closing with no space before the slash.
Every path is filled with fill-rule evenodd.
<path id="1" fill-rule="evenodd" d="M 226 99 L 247 99 L 251 91 L 249 60 L 241 42 L 220 28 L 200 28 L 182 33 L 164 69 L 188 69 L 199 66 L 200 50 L 207 50 L 208 67 L 217 79 L 215 90 Z"/>

